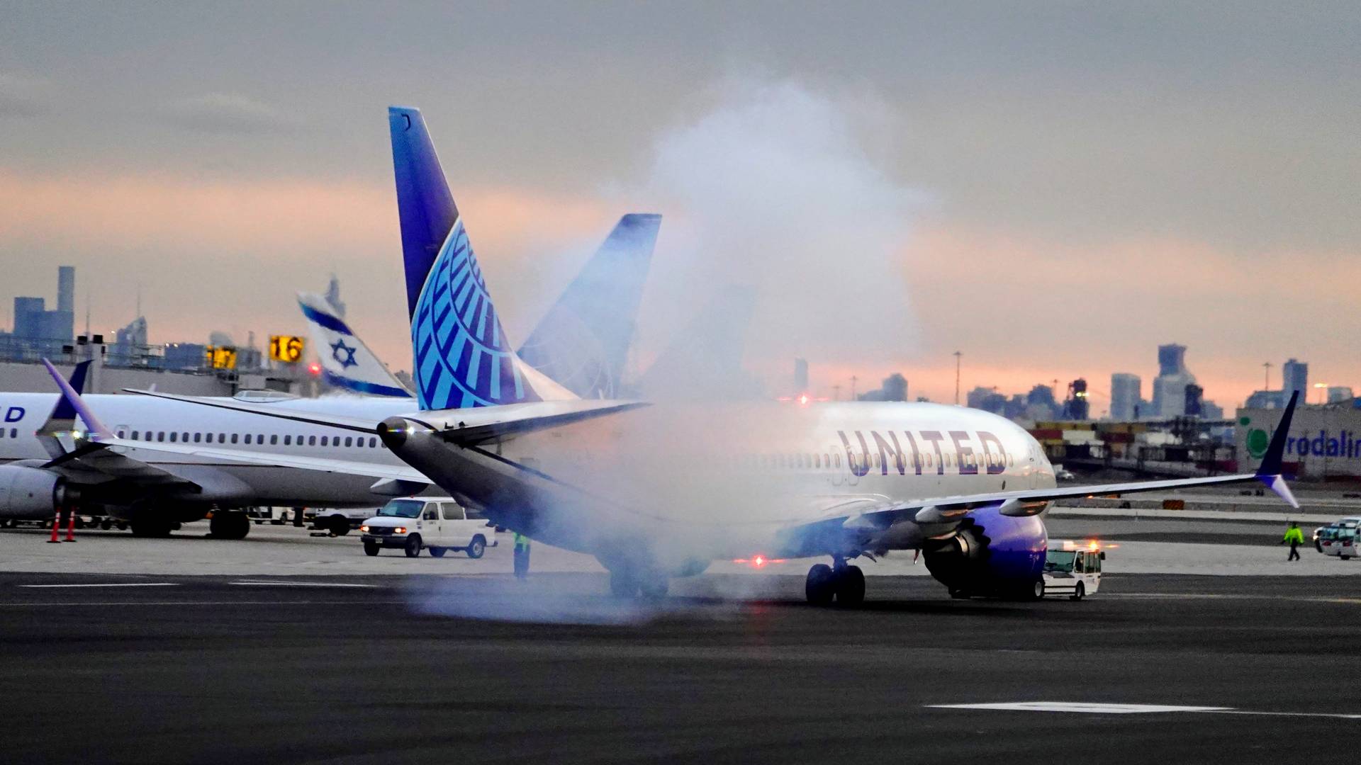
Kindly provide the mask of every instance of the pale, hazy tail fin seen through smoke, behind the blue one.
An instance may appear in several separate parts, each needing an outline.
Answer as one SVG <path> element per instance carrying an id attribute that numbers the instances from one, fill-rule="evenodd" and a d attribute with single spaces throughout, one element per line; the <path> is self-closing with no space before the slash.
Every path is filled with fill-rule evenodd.
<path id="1" fill-rule="evenodd" d="M 660 215 L 619 219 L 520 346 L 520 358 L 583 399 L 618 395 Z"/>

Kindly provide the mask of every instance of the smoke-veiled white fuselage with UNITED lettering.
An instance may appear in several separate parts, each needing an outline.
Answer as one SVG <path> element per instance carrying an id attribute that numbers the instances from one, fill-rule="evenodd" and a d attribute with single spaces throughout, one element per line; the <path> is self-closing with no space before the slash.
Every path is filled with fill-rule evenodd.
<path id="1" fill-rule="evenodd" d="M 923 403 L 656 404 L 399 452 L 510 528 L 603 558 L 641 544 L 668 565 L 793 554 L 788 530 L 855 508 L 1055 485 L 1015 423 Z"/>

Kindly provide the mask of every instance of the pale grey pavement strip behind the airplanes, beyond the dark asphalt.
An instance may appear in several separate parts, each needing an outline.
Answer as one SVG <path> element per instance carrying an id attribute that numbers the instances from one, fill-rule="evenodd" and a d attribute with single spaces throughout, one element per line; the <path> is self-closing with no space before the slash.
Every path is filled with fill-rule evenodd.
<path id="1" fill-rule="evenodd" d="M 1089 510 L 1082 510 L 1087 513 Z M 1339 561 L 1301 547 L 1302 559 L 1286 562 L 1278 544 L 1285 525 L 1277 521 L 1243 521 L 1225 513 L 1224 520 L 1051 515 L 1045 523 L 1051 539 L 1100 539 L 1113 544 L 1105 570 L 1109 573 L 1241 574 L 1241 576 L 1356 576 L 1361 561 Z M 350 576 L 350 574 L 501 574 L 510 570 L 510 535 L 480 559 L 457 551 L 444 558 L 429 554 L 411 559 L 401 550 L 363 554 L 358 534 L 312 536 L 293 525 L 252 525 L 241 540 L 207 536 L 204 523 L 188 524 L 166 539 L 133 538 L 120 531 L 79 531 L 75 544 L 48 544 L 48 532 L 33 527 L 0 530 L 0 572 L 109 573 L 163 576 Z M 1311 534 L 1307 528 L 1305 534 Z M 720 561 L 710 573 L 796 574 L 807 573 L 810 561 L 773 561 L 754 569 L 749 564 Z M 535 544 L 536 572 L 603 573 L 591 555 L 547 544 Z M 868 576 L 928 576 L 912 553 L 890 553 L 863 561 Z"/>

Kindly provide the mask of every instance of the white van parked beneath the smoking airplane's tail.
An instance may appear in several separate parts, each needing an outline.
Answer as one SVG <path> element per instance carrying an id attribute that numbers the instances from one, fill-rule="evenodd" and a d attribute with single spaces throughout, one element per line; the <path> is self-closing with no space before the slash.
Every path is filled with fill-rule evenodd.
<path id="1" fill-rule="evenodd" d="M 377 555 L 384 547 L 401 547 L 408 558 L 430 550 L 436 558 L 446 550 L 463 550 L 480 558 L 497 546 L 495 525 L 478 510 L 465 509 L 450 497 L 404 497 L 392 500 L 378 515 L 363 521 L 363 553 Z"/>

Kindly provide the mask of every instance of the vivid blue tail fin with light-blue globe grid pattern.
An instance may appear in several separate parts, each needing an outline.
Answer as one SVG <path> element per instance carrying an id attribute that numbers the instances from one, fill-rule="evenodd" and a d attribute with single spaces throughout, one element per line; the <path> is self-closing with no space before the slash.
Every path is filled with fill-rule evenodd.
<path id="1" fill-rule="evenodd" d="M 540 400 L 501 329 L 421 112 L 391 108 L 388 121 L 421 408 Z"/>

